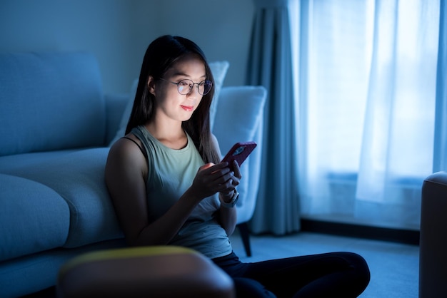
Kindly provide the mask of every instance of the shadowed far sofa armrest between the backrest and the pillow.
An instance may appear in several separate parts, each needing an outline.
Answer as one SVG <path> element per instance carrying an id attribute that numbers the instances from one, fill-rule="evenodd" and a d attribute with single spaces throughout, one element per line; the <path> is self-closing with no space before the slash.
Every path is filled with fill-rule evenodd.
<path id="1" fill-rule="evenodd" d="M 126 108 L 129 94 L 106 94 L 106 140 L 109 145 L 119 130 L 119 124 Z"/>

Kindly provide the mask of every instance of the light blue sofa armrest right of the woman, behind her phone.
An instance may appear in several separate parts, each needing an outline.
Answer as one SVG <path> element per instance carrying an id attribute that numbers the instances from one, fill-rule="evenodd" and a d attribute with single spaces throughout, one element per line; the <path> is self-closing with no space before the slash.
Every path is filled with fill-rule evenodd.
<path id="1" fill-rule="evenodd" d="M 253 216 L 261 179 L 263 149 L 263 111 L 267 91 L 263 86 L 227 86 L 221 89 L 213 133 L 221 153 L 237 142 L 255 141 L 258 146 L 241 165 L 239 200 L 236 205 L 238 221 L 247 222 Z"/>

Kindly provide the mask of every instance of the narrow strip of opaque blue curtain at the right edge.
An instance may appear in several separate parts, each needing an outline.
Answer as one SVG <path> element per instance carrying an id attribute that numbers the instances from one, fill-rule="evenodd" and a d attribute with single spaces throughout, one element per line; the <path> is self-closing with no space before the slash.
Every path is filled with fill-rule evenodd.
<path id="1" fill-rule="evenodd" d="M 433 172 L 447 171 L 447 1 L 439 7 L 438 71 L 436 73 L 436 116 Z"/>

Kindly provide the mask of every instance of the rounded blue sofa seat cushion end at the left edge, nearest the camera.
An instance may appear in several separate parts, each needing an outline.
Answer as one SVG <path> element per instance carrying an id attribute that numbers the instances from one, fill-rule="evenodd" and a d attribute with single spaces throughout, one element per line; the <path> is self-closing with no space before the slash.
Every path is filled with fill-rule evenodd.
<path id="1" fill-rule="evenodd" d="M 0 262 L 61 247 L 69 220 L 68 204 L 50 187 L 0 174 Z"/>

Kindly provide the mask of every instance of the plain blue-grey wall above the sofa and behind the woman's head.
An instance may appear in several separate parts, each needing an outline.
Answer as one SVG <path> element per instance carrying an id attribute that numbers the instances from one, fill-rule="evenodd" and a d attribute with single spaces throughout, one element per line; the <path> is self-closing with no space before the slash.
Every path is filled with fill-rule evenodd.
<path id="1" fill-rule="evenodd" d="M 245 83 L 253 0 L 0 0 L 0 52 L 91 51 L 106 92 L 127 93 L 162 34 L 191 38 Z"/>

